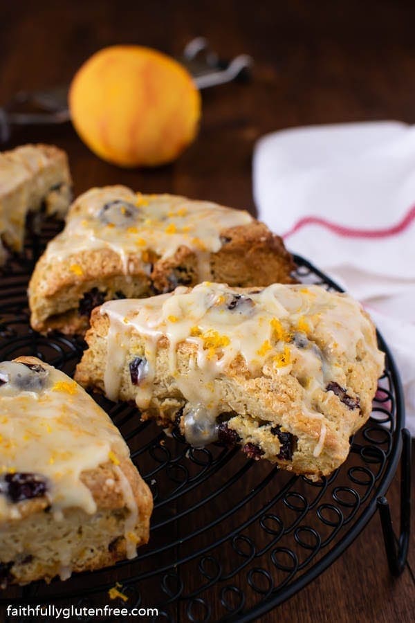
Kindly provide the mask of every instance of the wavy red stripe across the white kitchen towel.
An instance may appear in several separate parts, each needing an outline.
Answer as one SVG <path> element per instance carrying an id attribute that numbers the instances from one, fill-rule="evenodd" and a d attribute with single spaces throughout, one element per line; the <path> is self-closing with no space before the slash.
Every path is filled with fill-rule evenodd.
<path id="1" fill-rule="evenodd" d="M 403 217 L 403 219 L 398 222 L 396 225 L 392 225 L 391 227 L 385 227 L 380 229 L 355 229 L 353 227 L 345 227 L 343 225 L 338 225 L 337 223 L 332 223 L 331 221 L 326 221 L 326 219 L 322 219 L 320 217 L 304 217 L 299 219 L 297 223 L 289 229 L 282 236 L 284 239 L 293 235 L 299 229 L 307 225 L 320 225 L 333 231 L 339 236 L 349 237 L 349 238 L 387 238 L 389 236 L 394 236 L 398 233 L 405 231 L 415 219 L 415 206 L 409 210 L 409 212 Z"/>

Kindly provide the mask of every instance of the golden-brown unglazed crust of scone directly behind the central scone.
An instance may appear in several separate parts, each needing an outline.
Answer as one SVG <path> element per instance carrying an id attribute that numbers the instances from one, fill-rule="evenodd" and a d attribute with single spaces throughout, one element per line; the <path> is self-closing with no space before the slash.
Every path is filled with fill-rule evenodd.
<path id="1" fill-rule="evenodd" d="M 105 192 L 103 189 L 103 196 Z M 68 218 L 80 218 L 79 211 L 79 204 L 73 204 Z M 191 215 L 187 219 L 191 222 Z M 203 253 L 203 279 L 246 287 L 293 282 L 295 265 L 282 239 L 255 219 L 224 228 L 221 244 L 219 251 Z M 29 284 L 30 323 L 42 333 L 53 329 L 83 333 L 86 320 L 77 321 L 75 316 L 84 294 L 98 289 L 102 301 L 117 298 L 117 292 L 126 298 L 143 298 L 172 291 L 178 285 L 196 285 L 201 280 L 200 264 L 201 258 L 186 244 L 167 258 L 145 247 L 123 259 L 109 247 L 85 248 L 63 259 L 50 257 L 46 251 Z"/>

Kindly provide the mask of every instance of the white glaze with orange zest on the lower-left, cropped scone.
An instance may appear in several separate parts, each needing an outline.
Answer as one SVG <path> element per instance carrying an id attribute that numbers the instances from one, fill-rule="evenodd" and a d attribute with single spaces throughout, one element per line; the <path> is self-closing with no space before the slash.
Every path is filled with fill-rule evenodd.
<path id="1" fill-rule="evenodd" d="M 96 503 L 80 480 L 82 472 L 115 456 L 117 460 L 128 458 L 129 449 L 107 414 L 75 381 L 36 361 L 47 376 L 42 387 L 34 383 L 33 390 L 21 389 L 21 379 L 25 381 L 30 374 L 26 365 L 0 363 L 0 480 L 4 474 L 16 472 L 44 477 L 55 521 L 62 521 L 63 511 L 69 507 L 93 514 Z M 127 478 L 114 467 L 130 510 L 127 534 L 136 523 L 137 507 Z M 0 495 L 0 521 L 13 517 L 19 517 L 18 505 Z"/>

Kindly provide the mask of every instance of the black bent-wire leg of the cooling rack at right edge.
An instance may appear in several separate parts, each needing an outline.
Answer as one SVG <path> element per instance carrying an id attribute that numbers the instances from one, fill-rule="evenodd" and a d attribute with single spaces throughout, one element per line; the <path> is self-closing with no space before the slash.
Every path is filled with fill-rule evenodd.
<path id="1" fill-rule="evenodd" d="M 397 539 L 392 527 L 389 502 L 382 496 L 378 498 L 380 522 L 382 523 L 383 539 L 389 570 L 392 575 L 398 576 L 403 572 L 407 560 L 411 520 L 411 434 L 407 428 L 402 431 L 402 460 L 400 474 L 400 534 Z"/>

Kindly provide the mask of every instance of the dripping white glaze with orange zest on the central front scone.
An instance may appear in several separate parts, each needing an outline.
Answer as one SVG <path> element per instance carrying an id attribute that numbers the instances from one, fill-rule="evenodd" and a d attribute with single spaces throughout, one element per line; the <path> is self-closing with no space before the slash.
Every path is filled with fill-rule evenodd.
<path id="1" fill-rule="evenodd" d="M 203 444 L 214 438 L 219 415 L 219 391 L 216 383 L 230 363 L 241 356 L 248 370 L 256 374 L 288 374 L 293 372 L 303 381 L 304 408 L 311 417 L 324 416 L 313 406 L 313 394 L 329 381 L 341 381 L 340 356 L 353 359 L 359 341 L 371 349 L 371 356 L 382 371 L 383 355 L 371 345 L 371 321 L 362 313 L 359 303 L 345 294 L 333 294 L 317 287 L 274 284 L 257 294 L 245 294 L 234 309 L 228 309 L 235 291 L 226 285 L 205 282 L 193 289 L 179 287 L 174 293 L 140 300 L 114 300 L 104 303 L 101 314 L 110 320 L 105 390 L 116 399 L 121 359 L 131 329 L 145 343 L 149 375 L 137 388 L 137 404 L 149 405 L 156 369 L 158 340 L 169 341 L 169 371 L 187 401 L 184 424 L 187 440 Z M 324 332 L 324 353 L 313 342 L 318 330 Z M 306 333 L 304 333 L 304 331 Z M 293 336 L 304 336 L 299 347 Z M 306 336 L 307 334 L 307 336 Z M 196 346 L 186 374 L 176 368 L 177 345 L 181 342 Z M 116 363 L 114 363 L 116 362 Z M 295 362 L 295 365 L 294 365 Z M 201 404 L 207 425 L 201 427 Z M 197 417 L 196 417 L 196 415 Z M 203 432 L 201 434 L 201 428 Z M 322 424 L 315 452 L 324 445 L 326 428 Z"/>

